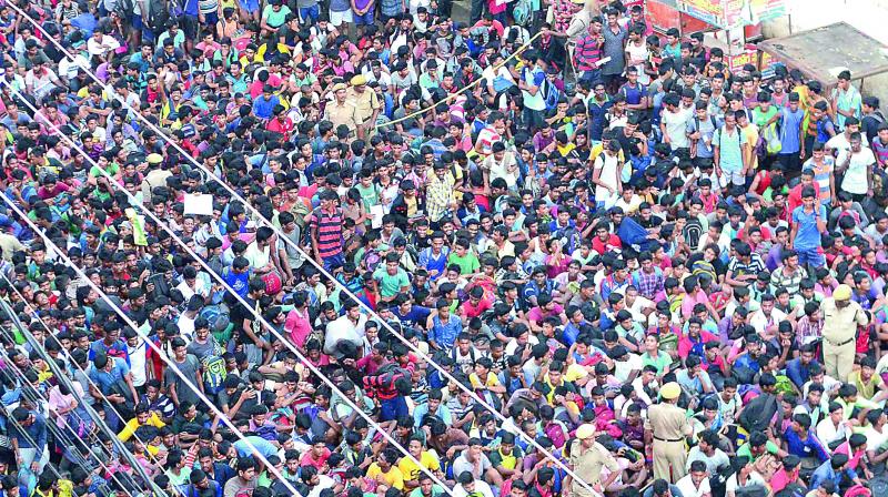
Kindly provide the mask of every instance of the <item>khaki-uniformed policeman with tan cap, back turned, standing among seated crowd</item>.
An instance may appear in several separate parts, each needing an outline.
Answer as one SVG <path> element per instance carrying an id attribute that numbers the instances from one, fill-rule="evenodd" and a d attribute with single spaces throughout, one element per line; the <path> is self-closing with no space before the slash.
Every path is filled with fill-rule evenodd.
<path id="1" fill-rule="evenodd" d="M 682 387 L 670 382 L 659 390 L 663 402 L 650 406 L 645 422 L 645 445 L 653 443 L 654 478 L 676 483 L 685 476 L 685 437 L 694 429 L 685 410 L 676 406 Z"/>

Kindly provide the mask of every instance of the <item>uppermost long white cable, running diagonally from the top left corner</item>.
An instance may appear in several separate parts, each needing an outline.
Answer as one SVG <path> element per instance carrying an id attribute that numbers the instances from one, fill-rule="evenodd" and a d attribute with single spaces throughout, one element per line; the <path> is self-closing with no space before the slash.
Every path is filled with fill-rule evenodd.
<path id="1" fill-rule="evenodd" d="M 44 30 L 44 28 L 42 26 L 40 26 L 39 22 L 34 21 L 30 16 L 28 16 L 27 12 L 22 11 L 21 9 L 19 9 L 18 6 L 14 6 L 12 3 L 10 3 L 10 6 L 12 7 L 13 10 L 16 10 L 22 17 L 22 19 L 28 20 L 38 30 L 43 32 L 47 36 L 47 39 L 51 43 L 53 43 L 61 51 L 61 53 L 64 53 L 67 57 L 69 57 L 69 58 L 71 58 L 73 60 L 73 55 L 64 47 L 62 47 L 61 43 L 59 43 L 58 41 L 56 41 L 56 39 L 53 39 L 51 36 L 49 36 L 49 33 Z M 352 300 L 355 301 L 362 308 L 364 308 L 364 311 L 367 314 L 376 317 L 379 320 L 379 322 L 381 323 L 381 325 L 384 326 L 393 336 L 396 336 L 411 351 L 413 351 L 415 354 L 417 354 L 420 357 L 422 357 L 428 364 L 431 364 L 435 369 L 438 371 L 438 373 L 442 376 L 444 376 L 448 381 L 451 381 L 454 384 L 456 384 L 457 388 L 460 388 L 463 392 L 465 392 L 466 394 L 468 394 L 470 397 L 472 397 L 478 405 L 484 407 L 488 413 L 493 414 L 494 417 L 498 418 L 502 423 L 508 423 L 508 419 L 505 416 L 503 416 L 502 413 L 496 410 L 496 408 L 494 408 L 490 403 L 484 400 L 473 389 L 471 389 L 471 388 L 466 387 L 465 385 L 463 385 L 462 382 L 456 379 L 456 377 L 454 377 L 451 373 L 446 372 L 440 364 L 437 364 L 434 361 L 432 361 L 432 357 L 430 357 L 428 354 L 425 354 L 424 352 L 422 352 L 418 347 L 416 347 L 415 345 L 413 345 L 413 343 L 411 343 L 407 338 L 405 338 L 404 335 L 402 335 L 401 333 L 395 331 L 385 320 L 381 318 L 379 316 L 379 314 L 376 314 L 375 311 L 370 308 L 370 306 L 366 305 L 360 298 L 357 298 L 357 296 L 351 290 L 349 290 L 345 285 L 343 285 L 341 282 L 339 282 L 335 277 L 333 277 L 333 275 L 330 272 L 327 272 L 323 267 L 322 264 L 320 264 L 317 261 L 313 260 L 296 242 L 294 242 L 294 241 L 290 240 L 287 236 L 285 236 L 284 233 L 279 227 L 276 227 L 270 220 L 268 220 L 265 216 L 263 216 L 262 213 L 260 213 L 255 207 L 253 207 L 246 200 L 243 199 L 243 196 L 241 196 L 236 191 L 234 191 L 226 182 L 224 182 L 221 179 L 216 178 L 214 172 L 210 171 L 205 165 L 203 165 L 200 162 L 198 162 L 194 158 L 191 156 L 190 153 L 188 153 L 184 149 L 182 149 L 178 143 L 173 142 L 170 138 L 168 138 L 157 125 L 154 125 L 154 123 L 152 123 L 150 120 L 144 118 L 141 114 L 140 111 L 133 109 L 124 99 L 120 98 L 120 95 L 118 95 L 110 87 L 104 84 L 104 82 L 102 82 L 95 75 L 95 73 L 91 70 L 91 68 L 90 69 L 82 68 L 82 69 L 92 80 L 94 80 L 99 85 L 102 87 L 102 89 L 104 89 L 105 93 L 109 97 L 118 100 L 124 108 L 130 110 L 132 115 L 135 115 L 135 118 L 138 120 L 142 121 L 145 124 L 147 128 L 149 128 L 152 131 L 154 131 L 158 134 L 159 138 L 161 138 L 167 143 L 169 143 L 171 146 L 173 146 L 175 150 L 178 150 L 182 154 L 183 158 L 186 158 L 196 168 L 199 168 L 200 170 L 202 170 L 205 173 L 208 173 L 209 174 L 208 180 L 209 180 L 209 178 L 214 179 L 220 185 L 222 185 L 222 187 L 224 187 L 229 193 L 232 194 L 232 197 L 239 200 L 243 204 L 244 209 L 249 209 L 253 213 L 255 220 L 261 220 L 269 227 L 271 227 L 271 230 L 273 230 L 273 232 L 278 235 L 278 239 L 283 240 L 284 243 L 286 243 L 287 245 L 291 245 L 294 250 L 296 250 L 306 261 L 309 261 L 313 266 L 315 266 L 319 270 L 319 272 L 321 272 L 321 274 L 323 274 L 327 278 L 330 278 L 330 281 L 332 281 L 333 284 L 339 287 L 341 293 L 344 293 L 345 295 L 352 297 Z M 145 211 L 149 211 L 149 210 L 145 210 Z M 551 454 L 549 450 L 546 449 L 545 447 L 543 447 L 536 439 L 534 439 L 533 437 L 527 436 L 527 434 L 525 434 L 521 429 L 516 430 L 516 435 L 518 435 L 522 438 L 524 438 L 529 445 L 533 445 L 535 448 L 539 449 L 542 452 L 542 454 L 544 454 L 547 459 L 549 459 L 556 466 L 558 466 L 561 469 L 563 469 L 567 475 L 569 475 L 573 478 L 574 481 L 577 481 L 584 489 L 591 491 L 594 496 L 599 495 L 599 493 L 597 490 L 595 490 L 595 488 L 593 488 L 592 485 L 589 485 L 586 480 L 581 478 L 573 469 L 571 469 L 567 466 L 567 464 L 565 464 L 563 460 L 561 460 L 559 458 L 557 458 L 553 454 Z"/>

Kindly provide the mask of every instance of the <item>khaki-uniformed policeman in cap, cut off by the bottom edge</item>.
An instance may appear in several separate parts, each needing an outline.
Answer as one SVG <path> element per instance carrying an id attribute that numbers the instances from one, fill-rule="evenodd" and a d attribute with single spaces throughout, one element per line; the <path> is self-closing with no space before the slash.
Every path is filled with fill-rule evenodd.
<path id="1" fill-rule="evenodd" d="M 591 423 L 577 428 L 576 439 L 571 444 L 568 457 L 567 465 L 573 473 L 599 493 L 603 493 L 622 473 L 614 456 L 602 444 L 595 442 L 595 425 Z M 603 466 L 606 466 L 609 471 L 604 481 L 601 479 Z M 567 475 L 562 485 L 562 496 L 593 496 L 594 494 L 582 481 L 576 481 L 573 476 Z"/>

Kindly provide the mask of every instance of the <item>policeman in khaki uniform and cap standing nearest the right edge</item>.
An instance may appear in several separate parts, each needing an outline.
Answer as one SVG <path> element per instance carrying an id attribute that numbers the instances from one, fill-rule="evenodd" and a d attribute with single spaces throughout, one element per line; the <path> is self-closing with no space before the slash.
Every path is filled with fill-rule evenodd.
<path id="1" fill-rule="evenodd" d="M 826 374 L 845 381 L 854 366 L 857 327 L 869 323 L 860 304 L 851 301 L 851 287 L 839 285 L 820 304 L 824 314 L 824 368 Z"/>

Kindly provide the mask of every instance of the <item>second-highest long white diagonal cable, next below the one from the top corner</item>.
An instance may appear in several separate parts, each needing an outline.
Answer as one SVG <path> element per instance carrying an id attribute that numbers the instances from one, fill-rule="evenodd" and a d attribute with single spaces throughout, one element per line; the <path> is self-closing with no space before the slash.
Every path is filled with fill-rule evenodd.
<path id="1" fill-rule="evenodd" d="M 10 90 L 11 90 L 11 89 L 10 89 Z M 12 91 L 13 91 L 14 93 L 18 93 L 18 92 L 16 92 L 14 90 L 12 90 Z M 19 94 L 19 95 L 20 95 L 20 94 Z M 30 108 L 32 111 L 34 111 L 34 112 L 36 112 L 36 109 L 32 106 L 32 104 L 31 104 L 30 102 L 26 102 L 26 105 L 28 105 L 28 106 L 29 106 L 29 108 Z M 381 434 L 381 435 L 382 435 L 382 436 L 383 436 L 383 437 L 384 437 L 384 438 L 385 438 L 385 439 L 386 439 L 386 440 L 387 440 L 390 444 L 392 444 L 392 445 L 393 445 L 395 448 L 397 448 L 397 449 L 398 449 L 398 452 L 401 452 L 401 453 L 402 453 L 402 454 L 403 454 L 405 457 L 407 457 L 407 458 L 408 458 L 411 462 L 413 462 L 413 463 L 416 465 L 416 467 L 418 467 L 418 468 L 420 468 L 420 469 L 421 469 L 423 473 L 425 473 L 426 475 L 428 475 L 428 476 L 432 478 L 432 480 L 433 480 L 434 483 L 436 483 L 437 485 L 442 486 L 442 488 L 446 489 L 446 491 L 447 491 L 448 494 L 453 495 L 453 494 L 452 494 L 452 490 L 450 490 L 450 488 L 447 487 L 447 485 L 446 485 L 444 481 L 442 481 L 442 480 L 441 480 L 441 479 L 440 479 L 437 476 L 435 476 L 435 474 L 434 474 L 433 471 L 431 471 L 428 468 L 426 468 L 426 467 L 425 467 L 425 466 L 424 466 L 424 465 L 423 465 L 423 464 L 422 464 L 422 463 L 421 463 L 418 459 L 416 459 L 416 458 L 415 458 L 415 457 L 414 457 L 412 454 L 410 454 L 410 450 L 407 450 L 407 449 L 406 449 L 406 448 L 405 448 L 403 445 L 401 445 L 401 444 L 400 444 L 397 440 L 395 440 L 395 439 L 394 439 L 394 438 L 391 436 L 391 434 L 389 434 L 389 433 L 387 433 L 387 432 L 386 432 L 386 430 L 385 430 L 385 429 L 384 429 L 382 426 L 380 426 L 380 424 L 379 424 L 379 423 L 376 423 L 376 422 L 375 422 L 375 420 L 374 420 L 374 419 L 373 419 L 371 416 L 369 416 L 366 413 L 364 413 L 364 410 L 361 408 L 361 406 L 359 406 L 359 405 L 357 405 L 357 404 L 355 404 L 355 403 L 354 403 L 354 402 L 353 402 L 351 398 L 349 398 L 347 396 L 345 396 L 345 395 L 342 393 L 342 390 L 340 390 L 340 388 L 339 388 L 339 387 L 337 387 L 337 386 L 336 386 L 336 385 L 333 383 L 333 381 L 331 381 L 331 379 L 330 379 L 330 378 L 329 378 L 326 375 L 324 375 L 323 373 L 321 373 L 321 371 L 320 371 L 317 367 L 315 367 L 315 366 L 314 366 L 314 364 L 312 364 L 312 363 L 311 363 L 311 361 L 309 361 L 309 359 L 307 359 L 307 357 L 305 357 L 305 356 L 302 354 L 302 352 L 300 352 L 300 351 L 299 351 L 299 349 L 297 349 L 295 346 L 293 346 L 293 344 L 292 344 L 292 343 L 291 343 L 291 342 L 290 342 L 287 338 L 285 338 L 283 335 L 281 335 L 281 334 L 280 334 L 280 333 L 279 333 L 279 332 L 278 332 L 278 331 L 276 331 L 276 329 L 275 329 L 275 328 L 274 328 L 274 327 L 271 325 L 271 323 L 269 323 L 269 322 L 268 322 L 268 321 L 266 321 L 266 320 L 265 320 L 265 318 L 262 316 L 262 314 L 261 314 L 261 313 L 258 313 L 258 312 L 256 312 L 256 311 L 253 308 L 253 306 L 249 305 L 249 304 L 248 304 L 248 302 L 246 302 L 246 301 L 245 301 L 245 300 L 244 300 L 242 296 L 240 296 L 240 295 L 238 294 L 238 292 L 236 292 L 236 291 L 235 291 L 235 290 L 234 290 L 234 288 L 233 288 L 233 287 L 232 287 L 232 286 L 231 286 L 231 285 L 230 285 L 230 284 L 229 284 L 229 283 L 228 283 L 228 282 L 226 282 L 226 281 L 225 281 L 225 280 L 224 280 L 224 278 L 223 278 L 221 275 L 216 274 L 216 272 L 214 272 L 214 271 L 213 271 L 213 270 L 212 270 L 212 268 L 209 266 L 209 264 L 208 264 L 208 263 L 206 263 L 206 262 L 203 260 L 203 257 L 201 257 L 201 255 L 200 255 L 200 254 L 198 254 L 198 253 L 196 253 L 196 252 L 194 252 L 194 251 L 193 251 L 191 247 L 189 247 L 189 246 L 188 246 L 188 244 L 186 244 L 186 243 L 185 243 L 185 242 L 184 242 L 184 241 L 183 241 L 181 237 L 179 237 L 179 235 L 178 235 L 178 234 L 176 234 L 176 233 L 175 233 L 173 230 L 171 230 L 171 229 L 170 229 L 170 227 L 169 227 L 167 224 L 164 224 L 164 223 L 163 223 L 163 222 L 160 220 L 160 217 L 158 217 L 158 216 L 157 216 L 157 215 L 155 215 L 155 214 L 154 214 L 154 213 L 153 213 L 153 212 L 152 212 L 150 209 L 141 209 L 141 205 L 138 203 L 138 202 L 139 202 L 139 201 L 138 201 L 138 199 L 137 199 L 134 195 L 132 195 L 130 192 L 128 192 L 125 189 L 121 187 L 121 186 L 120 186 L 120 185 L 117 183 L 117 181 L 114 180 L 114 178 L 113 178 L 113 176 L 111 176 L 111 174 L 110 174 L 110 173 L 108 173 L 108 172 L 107 172 L 104 169 L 102 169 L 102 168 L 101 168 L 101 166 L 98 164 L 98 162 L 93 161 L 93 159 L 92 159 L 92 158 L 90 158 L 90 156 L 89 156 L 89 155 L 85 153 L 85 151 L 83 151 L 83 149 L 82 149 L 82 148 L 80 148 L 80 145 L 78 145 L 78 144 L 77 144 L 74 141 L 73 141 L 73 140 L 71 140 L 70 138 L 68 138 L 68 136 L 67 136 L 67 135 L 64 135 L 63 133 L 61 133 L 61 130 L 59 130 L 59 129 L 58 129 L 58 128 L 57 128 L 54 124 L 52 124 L 52 123 L 49 123 L 49 125 L 50 125 L 52 129 L 54 129 L 57 132 L 59 132 L 59 133 L 60 133 L 60 138 L 61 138 L 62 140 L 64 140 L 64 141 L 65 141 L 65 142 L 67 142 L 67 143 L 68 143 L 68 144 L 69 144 L 69 145 L 72 148 L 72 149 L 77 150 L 79 153 L 81 153 L 81 154 L 83 155 L 83 158 L 84 158 L 85 160 L 88 160 L 90 163 L 92 163 L 92 164 L 95 166 L 95 169 L 97 169 L 97 170 L 98 170 L 98 171 L 99 171 L 99 172 L 100 172 L 100 173 L 101 173 L 101 174 L 102 174 L 102 175 L 103 175 L 103 176 L 104 176 L 104 178 L 105 178 L 105 179 L 107 179 L 107 180 L 108 180 L 108 181 L 111 183 L 111 185 L 113 185 L 112 187 L 115 187 L 117 190 L 119 190 L 119 191 L 123 192 L 123 193 L 127 195 L 127 197 L 130 200 L 130 202 L 132 202 L 132 203 L 133 203 L 133 206 L 139 206 L 139 207 L 140 207 L 140 210 L 142 211 L 142 213 L 144 213 L 144 214 L 145 214 L 148 217 L 150 217 L 150 219 L 151 219 L 151 220 L 152 220 L 152 221 L 153 221 L 153 222 L 154 222 L 154 223 L 158 225 L 158 227 L 160 227 L 160 229 L 162 229 L 163 231 L 165 231 L 165 232 L 167 232 L 167 233 L 168 233 L 168 234 L 169 234 L 169 235 L 170 235 L 170 236 L 171 236 L 173 240 L 175 240 L 175 241 L 176 241 L 176 242 L 178 242 L 178 243 L 179 243 L 179 244 L 182 246 L 182 248 L 183 248 L 185 252 L 188 252 L 188 253 L 189 253 L 189 255 L 191 255 L 191 256 L 194 258 L 194 261 L 196 261 L 199 264 L 201 264 L 201 266 L 203 266 L 203 267 L 206 270 L 206 272 L 208 272 L 208 274 L 209 274 L 209 275 L 211 275 L 212 277 L 214 277 L 214 278 L 215 278 L 215 280 L 216 280 L 216 281 L 218 281 L 218 282 L 219 282 L 219 283 L 220 283 L 220 284 L 221 284 L 221 285 L 222 285 L 222 286 L 223 286 L 223 287 L 224 287 L 224 288 L 225 288 L 225 290 L 226 290 L 226 291 L 228 291 L 228 292 L 229 292 L 231 295 L 232 295 L 232 296 L 233 296 L 233 297 L 235 297 L 235 298 L 238 300 L 238 302 L 239 302 L 239 303 L 240 303 L 240 304 L 241 304 L 241 305 L 242 305 L 244 308 L 249 310 L 249 312 L 250 312 L 251 314 L 253 314 L 253 316 L 256 318 L 256 321 L 258 321 L 259 323 L 261 323 L 261 324 L 262 324 L 262 325 L 263 325 L 263 326 L 264 326 L 264 327 L 265 327 L 265 328 L 266 328 L 266 329 L 268 329 L 268 331 L 269 331 L 269 332 L 270 332 L 272 335 L 274 335 L 274 336 L 275 336 L 278 339 L 280 339 L 282 344 L 286 345 L 286 346 L 290 348 L 290 351 L 291 351 L 293 354 L 295 354 L 295 355 L 296 355 L 296 357 L 299 357 L 299 358 L 300 358 L 300 359 L 303 362 L 304 366 L 305 366 L 305 367 L 307 367 L 309 369 L 311 369 L 311 372 L 312 372 L 312 373 L 314 373 L 315 375 L 317 375 L 317 377 L 319 377 L 319 378 L 320 378 L 322 382 L 324 382 L 324 383 L 325 383 L 327 386 L 330 386 L 331 390 L 332 390 L 333 393 L 335 393 L 336 395 L 339 395 L 339 396 L 341 397 L 341 399 L 342 399 L 342 400 L 343 400 L 343 402 L 344 402 L 346 405 L 349 405 L 349 407 L 351 407 L 352 409 L 354 409 L 354 412 L 355 412 L 356 414 L 359 414 L 360 416 L 362 416 L 362 417 L 363 417 L 363 418 L 364 418 L 364 419 L 367 422 L 367 424 L 369 424 L 369 425 L 371 425 L 371 426 L 373 426 L 374 428 L 376 428 L 376 430 L 377 430 L 377 432 L 379 432 L 379 433 L 380 433 L 380 434 Z M 355 388 L 359 388 L 359 385 L 355 385 Z"/>

